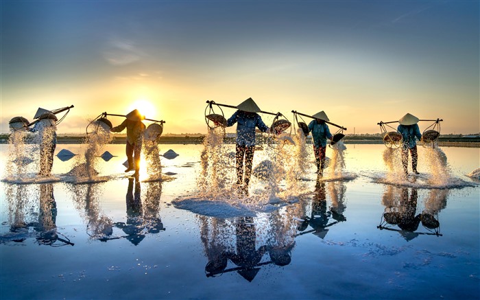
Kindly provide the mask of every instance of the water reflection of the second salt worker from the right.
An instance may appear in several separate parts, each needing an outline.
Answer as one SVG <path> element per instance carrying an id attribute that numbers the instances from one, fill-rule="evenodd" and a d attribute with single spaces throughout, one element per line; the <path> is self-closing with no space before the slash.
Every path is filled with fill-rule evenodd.
<path id="1" fill-rule="evenodd" d="M 328 192 L 331 198 L 331 207 L 327 210 L 326 203 L 326 184 L 328 184 Z M 311 207 L 307 207 L 306 211 L 309 216 L 304 216 L 303 222 L 298 227 L 298 231 L 302 231 L 299 235 L 313 233 L 319 238 L 324 239 L 328 228 L 339 222 L 346 221 L 344 212 L 346 209 L 345 195 L 346 186 L 342 181 L 318 181 L 315 185 L 315 192 L 311 200 Z M 311 230 L 305 231 L 308 227 Z"/>

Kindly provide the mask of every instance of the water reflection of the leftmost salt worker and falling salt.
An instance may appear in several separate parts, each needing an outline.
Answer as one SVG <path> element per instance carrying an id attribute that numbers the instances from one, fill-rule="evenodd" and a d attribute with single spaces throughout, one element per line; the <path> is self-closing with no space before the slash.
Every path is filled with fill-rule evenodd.
<path id="1" fill-rule="evenodd" d="M 1 242 L 23 242 L 34 236 L 38 244 L 48 246 L 74 245 L 69 238 L 57 231 L 57 205 L 53 196 L 52 183 L 9 185 L 9 187 L 7 196 L 9 197 L 10 232 L 1 236 Z M 16 189 L 14 190 L 12 187 L 16 187 Z M 30 195 L 27 191 L 27 189 L 34 187 L 40 189 L 39 198 Z M 34 200 L 32 201 L 32 199 Z M 39 199 L 38 207 L 37 199 Z M 34 230 L 33 234 L 29 229 Z"/>

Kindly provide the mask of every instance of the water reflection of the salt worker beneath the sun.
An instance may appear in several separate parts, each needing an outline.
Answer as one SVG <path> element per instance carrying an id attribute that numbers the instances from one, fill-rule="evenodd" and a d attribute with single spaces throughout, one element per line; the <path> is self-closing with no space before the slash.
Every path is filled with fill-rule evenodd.
<path id="1" fill-rule="evenodd" d="M 160 209 L 160 181 L 147 183 L 145 203 L 141 200 L 141 186 L 138 178 L 128 178 L 128 189 L 125 196 L 127 221 L 116 222 L 115 227 L 121 229 L 126 238 L 135 246 L 145 238 L 147 233 L 165 231 L 162 220 L 158 216 Z"/>

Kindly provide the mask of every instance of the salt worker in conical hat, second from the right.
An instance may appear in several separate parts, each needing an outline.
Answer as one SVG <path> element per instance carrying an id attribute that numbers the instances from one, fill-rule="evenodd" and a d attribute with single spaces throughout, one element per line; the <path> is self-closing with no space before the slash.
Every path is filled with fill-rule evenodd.
<path id="1" fill-rule="evenodd" d="M 309 132 L 312 132 L 313 137 L 313 154 L 315 155 L 315 164 L 317 165 L 317 174 L 323 175 L 325 167 L 325 152 L 326 152 L 326 139 L 332 139 L 333 135 L 328 129 L 328 125 L 325 121 L 330 121 L 324 111 L 315 113 L 313 115 L 315 119 L 309 124 Z"/>

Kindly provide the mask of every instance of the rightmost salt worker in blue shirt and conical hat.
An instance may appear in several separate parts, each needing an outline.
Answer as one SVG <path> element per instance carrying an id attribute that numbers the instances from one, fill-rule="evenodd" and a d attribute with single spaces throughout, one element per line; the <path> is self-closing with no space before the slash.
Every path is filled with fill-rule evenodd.
<path id="1" fill-rule="evenodd" d="M 405 174 L 408 174 L 408 152 L 411 154 L 411 169 L 413 173 L 419 174 L 417 171 L 417 161 L 418 161 L 418 152 L 417 152 L 417 138 L 419 141 L 422 139 L 422 134 L 420 133 L 420 128 L 418 128 L 418 117 L 410 115 L 407 113 L 398 120 L 397 131 L 402 135 L 402 165 L 403 171 Z"/>

